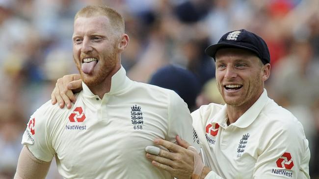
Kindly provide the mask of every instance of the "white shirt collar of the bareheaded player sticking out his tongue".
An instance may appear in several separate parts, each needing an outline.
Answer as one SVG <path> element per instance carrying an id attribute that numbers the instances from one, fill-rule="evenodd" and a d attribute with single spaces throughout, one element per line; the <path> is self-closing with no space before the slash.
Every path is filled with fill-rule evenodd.
<path id="1" fill-rule="evenodd" d="M 129 88 L 132 82 L 133 81 L 126 76 L 124 67 L 121 66 L 121 68 L 112 76 L 111 88 L 106 94 L 121 93 L 123 90 Z M 92 93 L 92 91 L 88 88 L 88 86 L 86 86 L 84 82 L 82 82 L 82 88 L 84 96 L 89 98 L 97 96 Z"/>

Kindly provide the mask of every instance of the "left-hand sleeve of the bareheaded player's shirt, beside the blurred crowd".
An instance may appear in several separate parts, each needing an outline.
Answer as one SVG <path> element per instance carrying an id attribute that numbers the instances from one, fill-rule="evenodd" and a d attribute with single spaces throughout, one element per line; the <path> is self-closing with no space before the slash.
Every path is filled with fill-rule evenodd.
<path id="1" fill-rule="evenodd" d="M 31 115 L 21 142 L 28 147 L 34 157 L 43 161 L 51 161 L 55 153 L 48 133 L 48 124 L 52 116 L 50 108 L 53 106 L 47 102 Z"/>

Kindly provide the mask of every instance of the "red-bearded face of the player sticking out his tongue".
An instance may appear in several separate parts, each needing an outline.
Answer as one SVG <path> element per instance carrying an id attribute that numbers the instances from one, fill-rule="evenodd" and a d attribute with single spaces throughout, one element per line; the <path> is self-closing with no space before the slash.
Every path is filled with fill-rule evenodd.
<path id="1" fill-rule="evenodd" d="M 87 86 L 101 84 L 121 67 L 120 41 L 106 16 L 76 18 L 73 58 Z"/>

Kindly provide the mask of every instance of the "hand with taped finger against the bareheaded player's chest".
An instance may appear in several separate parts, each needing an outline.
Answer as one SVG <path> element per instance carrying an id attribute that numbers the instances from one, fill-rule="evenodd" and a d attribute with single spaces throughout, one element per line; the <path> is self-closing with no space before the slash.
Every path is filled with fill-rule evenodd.
<path id="1" fill-rule="evenodd" d="M 155 139 L 154 143 L 167 148 L 169 151 L 160 149 L 158 156 L 147 153 L 146 157 L 152 160 L 154 166 L 168 171 L 173 177 L 190 179 L 194 168 L 194 153 L 187 150 L 190 144 L 179 136 L 176 136 L 176 141 L 180 146 L 163 139 Z"/>

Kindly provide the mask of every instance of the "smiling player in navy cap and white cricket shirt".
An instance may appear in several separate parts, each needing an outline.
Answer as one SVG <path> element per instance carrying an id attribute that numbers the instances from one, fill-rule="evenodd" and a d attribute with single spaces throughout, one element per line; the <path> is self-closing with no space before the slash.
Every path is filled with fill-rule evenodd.
<path id="1" fill-rule="evenodd" d="M 265 41 L 240 29 L 223 35 L 205 53 L 215 60 L 217 87 L 226 104 L 204 105 L 191 114 L 203 161 L 189 152 L 188 142 L 157 138 L 155 144 L 169 151 L 149 147 L 152 164 L 179 179 L 309 179 L 303 127 L 264 88 L 270 75 Z"/>

